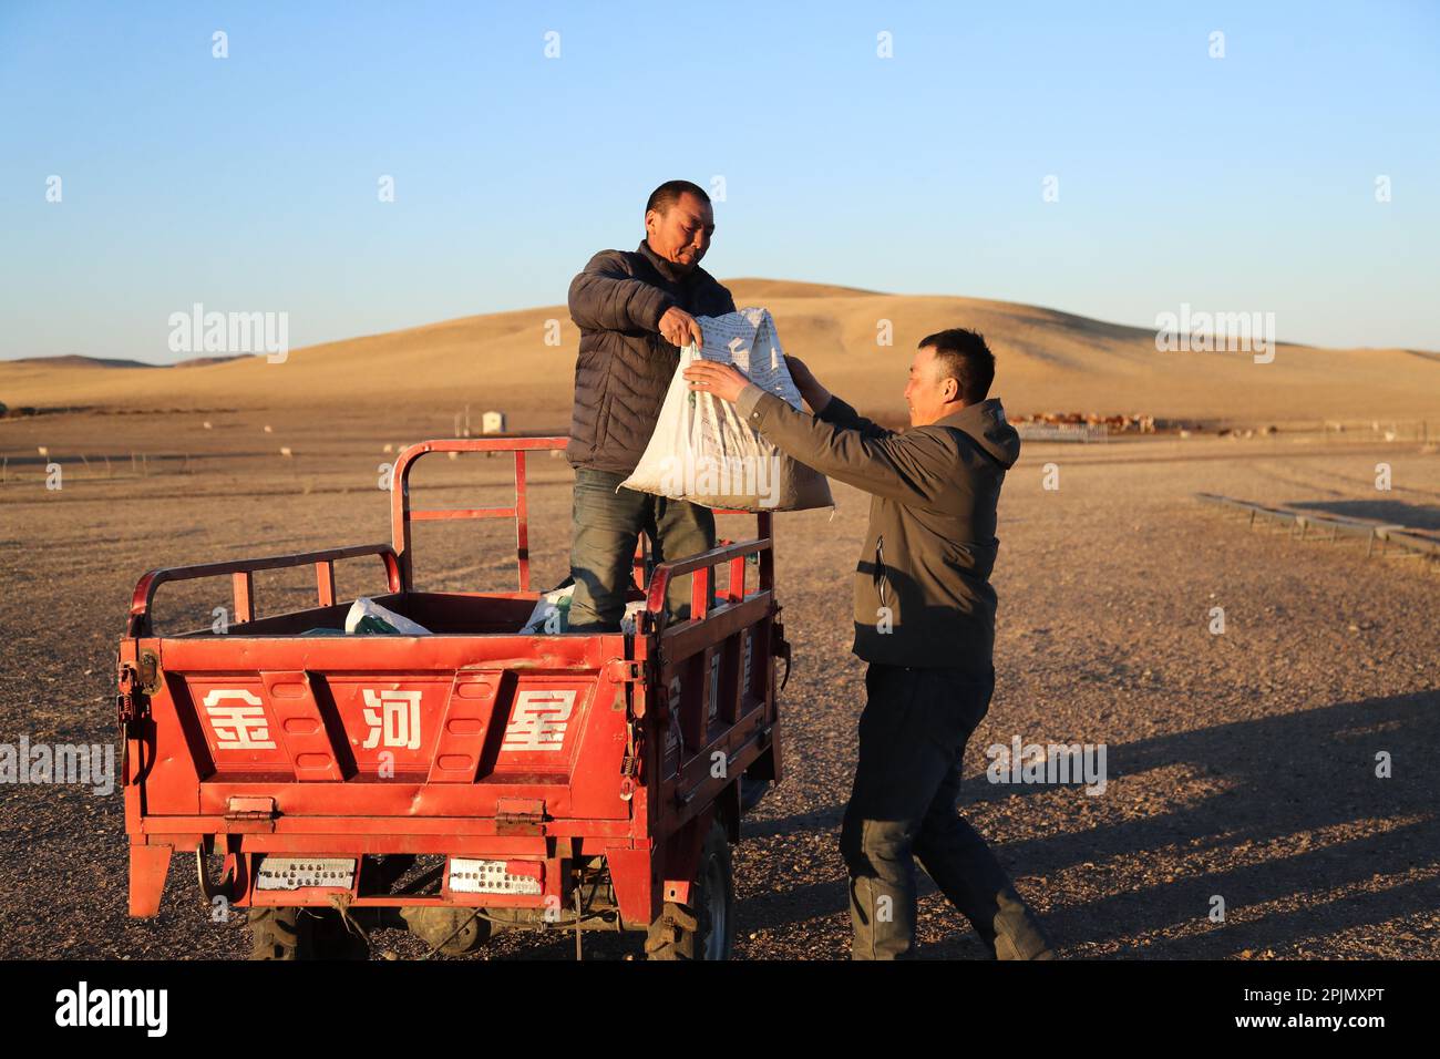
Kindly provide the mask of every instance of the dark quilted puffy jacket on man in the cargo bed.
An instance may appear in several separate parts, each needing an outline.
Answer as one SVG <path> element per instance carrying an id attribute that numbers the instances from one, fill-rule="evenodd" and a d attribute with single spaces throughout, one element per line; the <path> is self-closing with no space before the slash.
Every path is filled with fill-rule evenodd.
<path id="1" fill-rule="evenodd" d="M 570 318 L 580 329 L 575 362 L 572 467 L 629 474 L 655 432 L 680 349 L 660 334 L 671 305 L 690 316 L 734 311 L 734 298 L 698 265 L 688 275 L 642 242 L 600 251 L 570 282 Z"/>

